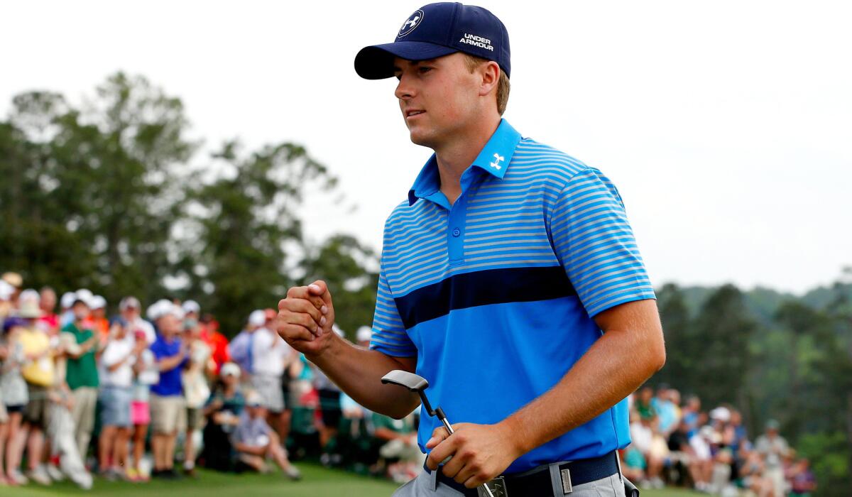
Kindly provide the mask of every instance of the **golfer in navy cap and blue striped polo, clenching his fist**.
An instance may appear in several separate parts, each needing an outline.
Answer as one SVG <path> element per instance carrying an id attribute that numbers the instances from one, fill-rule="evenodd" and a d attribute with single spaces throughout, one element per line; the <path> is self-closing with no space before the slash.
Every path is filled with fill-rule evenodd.
<path id="1" fill-rule="evenodd" d="M 394 43 L 362 49 L 355 70 L 399 80 L 411 140 L 435 153 L 385 224 L 370 348 L 331 332 L 321 280 L 279 302 L 281 336 L 394 418 L 418 397 L 383 375 L 429 381 L 455 433 L 423 413 L 426 465 L 394 495 L 477 495 L 482 483 L 509 497 L 624 495 L 625 397 L 665 348 L 613 183 L 501 118 L 509 36 L 486 9 L 417 9 Z M 559 81 L 550 91 L 563 97 Z"/>

